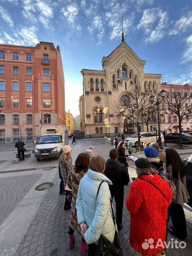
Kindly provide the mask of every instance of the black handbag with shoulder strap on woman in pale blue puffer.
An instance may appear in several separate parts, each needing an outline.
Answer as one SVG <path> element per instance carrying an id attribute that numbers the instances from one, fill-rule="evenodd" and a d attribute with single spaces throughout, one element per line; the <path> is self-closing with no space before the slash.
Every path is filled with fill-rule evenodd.
<path id="1" fill-rule="evenodd" d="M 102 181 L 99 185 L 97 196 L 101 187 L 101 184 L 104 181 Z M 110 199 L 110 207 L 111 207 L 111 212 L 112 212 L 112 218 L 113 218 L 113 223 L 116 229 L 116 220 L 115 220 L 115 214 L 112 206 L 112 201 Z M 114 242 L 111 243 L 105 236 L 101 234 L 101 237 L 99 239 L 99 244 L 97 246 L 97 251 L 95 256 L 123 256 L 123 252 L 120 246 L 119 242 L 119 236 L 117 230 L 115 230 L 115 237 L 114 237 Z"/>

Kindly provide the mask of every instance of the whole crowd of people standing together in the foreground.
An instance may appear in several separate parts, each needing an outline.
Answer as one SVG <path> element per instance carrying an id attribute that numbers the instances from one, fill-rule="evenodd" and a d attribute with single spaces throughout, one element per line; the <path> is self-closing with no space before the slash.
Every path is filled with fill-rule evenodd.
<path id="1" fill-rule="evenodd" d="M 122 229 L 124 186 L 130 182 L 128 155 L 124 141 L 115 139 L 109 159 L 95 155 L 94 146 L 77 156 L 72 165 L 71 147 L 65 145 L 59 157 L 60 194 L 65 194 L 64 210 L 71 209 L 69 249 L 73 248 L 74 231 L 82 236 L 81 256 L 98 254 L 101 234 L 113 243 Z M 144 157 L 135 161 L 137 178 L 131 183 L 126 199 L 130 213 L 130 244 L 142 255 L 165 255 L 167 231 L 185 239 L 186 221 L 182 205 L 189 200 L 186 189 L 186 166 L 173 148 L 165 153 L 157 143 L 144 145 Z M 115 200 L 116 223 L 112 218 Z M 168 227 L 169 218 L 173 226 Z M 161 246 L 143 248 L 146 239 L 158 239 Z"/>

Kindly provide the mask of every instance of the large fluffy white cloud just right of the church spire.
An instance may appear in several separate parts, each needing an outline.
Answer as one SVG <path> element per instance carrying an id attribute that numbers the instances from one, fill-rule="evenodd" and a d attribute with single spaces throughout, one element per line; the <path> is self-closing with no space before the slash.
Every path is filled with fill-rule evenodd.
<path id="1" fill-rule="evenodd" d="M 137 29 L 143 29 L 146 35 L 144 42 L 155 43 L 166 34 L 168 23 L 167 12 L 160 8 L 145 9 L 143 17 L 140 19 Z"/>

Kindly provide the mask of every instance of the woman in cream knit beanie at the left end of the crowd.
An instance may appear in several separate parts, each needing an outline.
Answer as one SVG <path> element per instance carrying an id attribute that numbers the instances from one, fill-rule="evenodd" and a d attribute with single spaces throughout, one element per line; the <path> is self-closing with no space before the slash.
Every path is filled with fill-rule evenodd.
<path id="1" fill-rule="evenodd" d="M 63 147 L 63 153 L 59 156 L 59 168 L 61 172 L 61 176 L 63 178 L 64 188 L 67 184 L 67 177 L 71 169 L 73 168 L 72 165 L 72 158 L 71 158 L 71 147 L 65 145 Z M 64 210 L 71 209 L 71 202 L 68 201 L 67 196 L 70 194 L 70 191 L 66 191 L 65 202 L 64 202 Z"/>

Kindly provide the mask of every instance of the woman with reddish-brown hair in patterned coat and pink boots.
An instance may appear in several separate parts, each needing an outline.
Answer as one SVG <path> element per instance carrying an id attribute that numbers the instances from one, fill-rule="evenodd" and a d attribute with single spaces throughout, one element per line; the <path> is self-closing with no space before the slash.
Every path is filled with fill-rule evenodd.
<path id="1" fill-rule="evenodd" d="M 81 228 L 77 222 L 77 210 L 76 210 L 76 199 L 77 192 L 79 188 L 79 183 L 82 177 L 87 174 L 88 166 L 90 163 L 90 157 L 87 153 L 81 153 L 77 156 L 75 161 L 75 166 L 69 172 L 67 185 L 72 190 L 72 201 L 71 201 L 71 216 L 69 224 L 69 249 L 72 250 L 74 243 L 74 230 L 81 235 Z M 86 244 L 84 238 L 82 238 L 81 244 L 81 256 L 84 256 L 84 252 L 88 251 L 88 245 Z"/>

